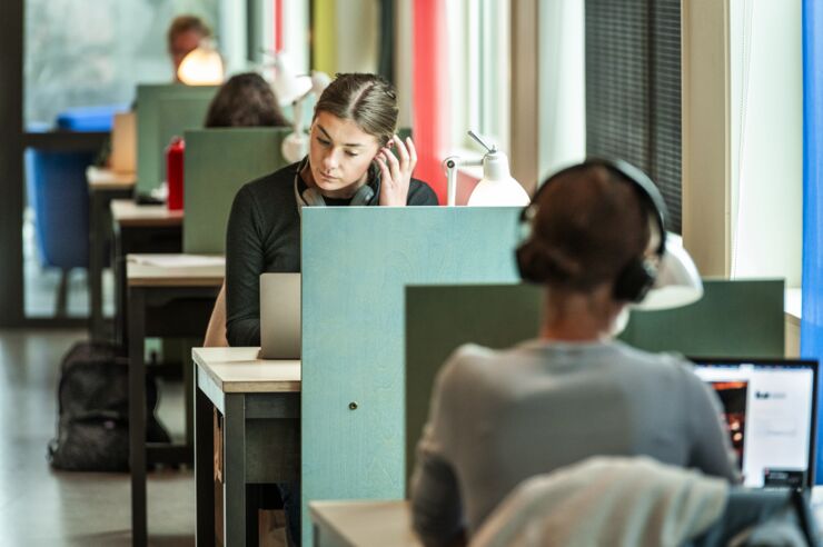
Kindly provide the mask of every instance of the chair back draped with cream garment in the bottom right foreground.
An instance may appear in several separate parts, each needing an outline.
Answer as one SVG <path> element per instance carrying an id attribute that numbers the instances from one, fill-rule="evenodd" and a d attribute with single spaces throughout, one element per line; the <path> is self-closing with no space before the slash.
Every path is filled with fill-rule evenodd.
<path id="1" fill-rule="evenodd" d="M 594 457 L 524 481 L 470 545 L 802 546 L 815 538 L 805 500 L 789 491 L 730 487 L 647 457 Z"/>

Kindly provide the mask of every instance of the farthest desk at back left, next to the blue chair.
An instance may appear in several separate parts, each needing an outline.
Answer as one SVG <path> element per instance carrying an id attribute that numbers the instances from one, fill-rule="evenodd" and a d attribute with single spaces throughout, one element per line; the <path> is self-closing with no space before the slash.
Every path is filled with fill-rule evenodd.
<path id="1" fill-rule="evenodd" d="M 103 318 L 102 272 L 106 249 L 113 241 L 109 203 L 113 199 L 131 196 L 137 173 L 117 173 L 110 169 L 89 167 L 86 170 L 89 185 L 89 317 L 91 339 L 107 339 Z"/>

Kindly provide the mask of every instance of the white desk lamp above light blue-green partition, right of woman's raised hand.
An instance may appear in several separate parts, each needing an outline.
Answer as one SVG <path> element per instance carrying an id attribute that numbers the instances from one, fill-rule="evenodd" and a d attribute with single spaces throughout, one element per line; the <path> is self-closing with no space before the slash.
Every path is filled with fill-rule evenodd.
<path id="1" fill-rule="evenodd" d="M 457 192 L 457 168 L 464 166 L 483 166 L 483 178 L 475 187 L 468 198 L 469 206 L 492 207 L 525 207 L 529 202 L 528 193 L 517 182 L 508 170 L 508 157 L 497 150 L 497 147 L 488 146 L 474 131 L 468 131 L 469 137 L 486 149 L 486 155 L 479 160 L 464 160 L 458 156 L 445 159 L 446 177 L 448 180 L 448 205 L 454 206 Z"/>

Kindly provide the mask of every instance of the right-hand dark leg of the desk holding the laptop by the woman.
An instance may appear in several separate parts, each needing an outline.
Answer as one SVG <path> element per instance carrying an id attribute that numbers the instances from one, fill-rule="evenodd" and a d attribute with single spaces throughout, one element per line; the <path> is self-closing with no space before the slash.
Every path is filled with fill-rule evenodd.
<path id="1" fill-rule="evenodd" d="M 224 424 L 222 521 L 226 547 L 246 545 L 246 401 L 226 394 Z"/>

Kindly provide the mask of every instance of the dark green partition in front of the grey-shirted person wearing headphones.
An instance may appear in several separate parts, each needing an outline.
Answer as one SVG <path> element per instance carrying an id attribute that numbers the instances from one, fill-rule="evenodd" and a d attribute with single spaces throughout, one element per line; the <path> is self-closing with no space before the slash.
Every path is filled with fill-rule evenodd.
<path id="1" fill-rule="evenodd" d="M 650 351 L 782 357 L 782 280 L 704 280 L 698 302 L 634 311 L 621 338 Z M 528 285 L 406 288 L 406 478 L 428 416 L 432 386 L 458 346 L 505 348 L 537 335 L 541 289 Z"/>

